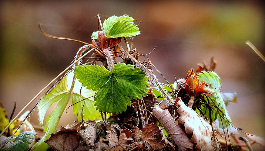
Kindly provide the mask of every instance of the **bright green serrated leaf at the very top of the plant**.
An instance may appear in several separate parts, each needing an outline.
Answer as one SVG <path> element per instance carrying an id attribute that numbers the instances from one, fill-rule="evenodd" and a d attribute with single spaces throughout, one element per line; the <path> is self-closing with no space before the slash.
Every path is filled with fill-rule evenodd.
<path id="1" fill-rule="evenodd" d="M 133 23 L 134 19 L 128 15 L 112 16 L 102 24 L 107 38 L 133 37 L 140 34 L 139 28 Z M 92 39 L 98 39 L 98 32 L 92 33 Z"/>

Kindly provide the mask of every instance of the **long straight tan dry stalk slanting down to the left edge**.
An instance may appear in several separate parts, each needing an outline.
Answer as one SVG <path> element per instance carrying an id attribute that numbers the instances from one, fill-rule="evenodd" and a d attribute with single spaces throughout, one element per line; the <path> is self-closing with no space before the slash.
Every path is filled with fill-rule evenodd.
<path id="1" fill-rule="evenodd" d="M 64 74 L 69 68 L 71 68 L 75 63 L 79 62 L 79 60 L 81 60 L 83 57 L 85 57 L 87 54 L 89 54 L 91 51 L 95 50 L 94 48 L 92 48 L 91 50 L 89 50 L 87 53 L 85 53 L 83 56 L 81 56 L 79 59 L 77 59 L 75 62 L 73 62 L 70 66 L 68 66 L 66 69 L 64 69 L 58 76 L 56 76 L 48 85 L 46 85 L 34 98 L 32 98 L 31 101 L 29 101 L 29 103 L 10 121 L 10 123 L 5 127 L 5 129 L 2 131 L 2 133 L 0 134 L 0 136 L 2 136 L 5 131 L 8 129 L 8 127 L 15 121 L 15 119 L 18 118 L 18 116 L 39 96 L 41 95 L 42 92 L 44 92 L 44 90 L 46 88 L 48 88 L 53 82 L 55 82 L 56 79 L 58 79 L 60 76 L 62 76 L 62 74 Z"/>

